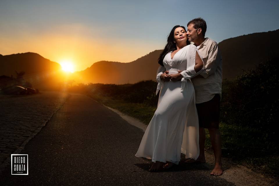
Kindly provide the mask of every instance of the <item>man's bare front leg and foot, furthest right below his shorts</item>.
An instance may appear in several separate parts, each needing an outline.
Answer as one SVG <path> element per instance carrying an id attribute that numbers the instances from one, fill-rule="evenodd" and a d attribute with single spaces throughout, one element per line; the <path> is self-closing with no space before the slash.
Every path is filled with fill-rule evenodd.
<path id="1" fill-rule="evenodd" d="M 215 166 L 211 175 L 220 176 L 223 174 L 222 162 L 221 162 L 221 134 L 218 128 L 208 128 L 210 134 L 210 141 L 213 147 L 213 152 L 215 156 Z"/>

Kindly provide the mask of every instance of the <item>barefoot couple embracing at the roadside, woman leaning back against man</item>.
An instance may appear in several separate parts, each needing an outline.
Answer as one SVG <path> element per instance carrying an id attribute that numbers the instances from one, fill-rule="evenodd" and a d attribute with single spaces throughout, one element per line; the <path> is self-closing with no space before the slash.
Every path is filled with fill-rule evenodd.
<path id="1" fill-rule="evenodd" d="M 205 128 L 215 156 L 211 175 L 223 174 L 219 112 L 222 59 L 215 41 L 205 38 L 206 22 L 196 18 L 174 26 L 158 58 L 157 110 L 135 156 L 152 160 L 149 171 L 169 169 L 180 162 L 204 163 Z M 190 44 L 193 42 L 194 44 Z"/>

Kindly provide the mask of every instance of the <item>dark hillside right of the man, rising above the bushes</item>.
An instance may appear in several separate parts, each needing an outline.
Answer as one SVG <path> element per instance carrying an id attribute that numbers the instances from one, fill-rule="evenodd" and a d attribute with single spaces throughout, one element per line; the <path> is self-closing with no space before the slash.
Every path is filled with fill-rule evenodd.
<path id="1" fill-rule="evenodd" d="M 242 35 L 221 41 L 218 46 L 223 58 L 223 79 L 229 80 L 252 69 L 260 62 L 279 56 L 279 29 Z"/>

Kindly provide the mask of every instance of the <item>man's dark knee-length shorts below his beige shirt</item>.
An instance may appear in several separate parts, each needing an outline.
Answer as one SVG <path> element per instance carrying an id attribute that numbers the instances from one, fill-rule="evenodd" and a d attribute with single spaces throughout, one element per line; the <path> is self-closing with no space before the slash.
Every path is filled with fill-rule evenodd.
<path id="1" fill-rule="evenodd" d="M 219 128 L 220 117 L 220 95 L 215 96 L 206 102 L 196 104 L 198 111 L 199 127 Z"/>

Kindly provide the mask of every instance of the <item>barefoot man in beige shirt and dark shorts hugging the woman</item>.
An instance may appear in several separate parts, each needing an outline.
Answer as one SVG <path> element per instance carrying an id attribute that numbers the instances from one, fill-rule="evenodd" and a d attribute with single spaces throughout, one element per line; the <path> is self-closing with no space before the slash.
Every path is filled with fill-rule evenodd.
<path id="1" fill-rule="evenodd" d="M 204 144 L 205 128 L 210 134 L 210 141 L 215 156 L 215 166 L 211 175 L 222 175 L 221 162 L 221 134 L 219 132 L 220 99 L 222 88 L 222 57 L 218 44 L 205 38 L 206 22 L 201 18 L 191 20 L 187 24 L 187 37 L 190 42 L 198 48 L 203 57 L 205 70 L 198 76 L 192 78 L 196 93 L 196 108 L 199 119 L 199 146 L 200 155 L 197 160 L 188 160 L 186 162 L 205 162 Z M 179 71 L 180 72 L 180 71 Z M 177 81 L 184 77 L 185 71 L 181 76 L 171 81 Z M 169 81 L 166 74 L 162 74 L 161 79 Z"/>

